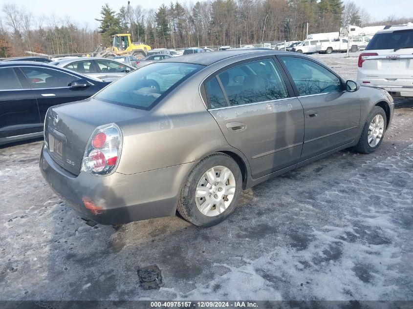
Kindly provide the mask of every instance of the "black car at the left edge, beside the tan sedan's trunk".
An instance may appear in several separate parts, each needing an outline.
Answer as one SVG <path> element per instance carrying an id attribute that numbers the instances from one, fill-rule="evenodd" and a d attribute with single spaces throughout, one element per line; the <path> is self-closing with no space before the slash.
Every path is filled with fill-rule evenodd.
<path id="1" fill-rule="evenodd" d="M 42 136 L 50 106 L 87 99 L 108 85 L 40 62 L 0 62 L 0 145 Z"/>

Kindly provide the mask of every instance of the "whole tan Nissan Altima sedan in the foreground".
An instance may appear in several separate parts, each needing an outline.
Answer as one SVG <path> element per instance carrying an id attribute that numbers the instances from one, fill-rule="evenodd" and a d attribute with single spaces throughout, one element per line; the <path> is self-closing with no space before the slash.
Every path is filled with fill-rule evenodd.
<path id="1" fill-rule="evenodd" d="M 49 108 L 40 168 L 89 225 L 177 209 L 208 227 L 242 189 L 350 146 L 373 152 L 392 114 L 385 90 L 301 54 L 184 55 Z"/>

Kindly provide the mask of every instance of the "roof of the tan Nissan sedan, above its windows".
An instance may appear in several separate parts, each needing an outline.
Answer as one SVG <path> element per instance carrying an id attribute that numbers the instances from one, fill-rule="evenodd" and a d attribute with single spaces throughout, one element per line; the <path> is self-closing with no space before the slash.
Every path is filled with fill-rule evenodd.
<path id="1" fill-rule="evenodd" d="M 288 54 L 291 55 L 291 52 L 285 51 L 275 51 L 272 49 L 230 49 L 230 50 L 222 50 L 217 51 L 214 53 L 199 53 L 199 54 L 189 54 L 183 55 L 179 57 L 173 57 L 161 60 L 160 62 L 184 62 L 184 63 L 193 63 L 193 64 L 201 64 L 201 65 L 210 65 L 215 62 L 236 57 L 244 54 L 251 54 L 251 56 L 267 56 L 267 55 L 278 55 L 278 54 Z"/>

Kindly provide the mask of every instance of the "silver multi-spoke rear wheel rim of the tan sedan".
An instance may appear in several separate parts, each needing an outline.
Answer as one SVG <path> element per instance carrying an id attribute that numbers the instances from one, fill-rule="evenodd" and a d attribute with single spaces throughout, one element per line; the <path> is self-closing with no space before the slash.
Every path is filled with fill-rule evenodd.
<path id="1" fill-rule="evenodd" d="M 208 169 L 196 185 L 195 202 L 205 216 L 213 217 L 230 206 L 235 194 L 235 177 L 225 166 Z"/>

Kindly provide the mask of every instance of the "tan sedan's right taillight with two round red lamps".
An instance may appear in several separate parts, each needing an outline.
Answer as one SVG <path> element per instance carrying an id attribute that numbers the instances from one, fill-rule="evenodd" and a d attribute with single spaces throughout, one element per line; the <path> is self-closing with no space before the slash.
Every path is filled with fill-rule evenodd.
<path id="1" fill-rule="evenodd" d="M 107 175 L 119 162 L 122 149 L 122 133 L 116 124 L 96 128 L 87 143 L 82 160 L 82 171 Z"/>

